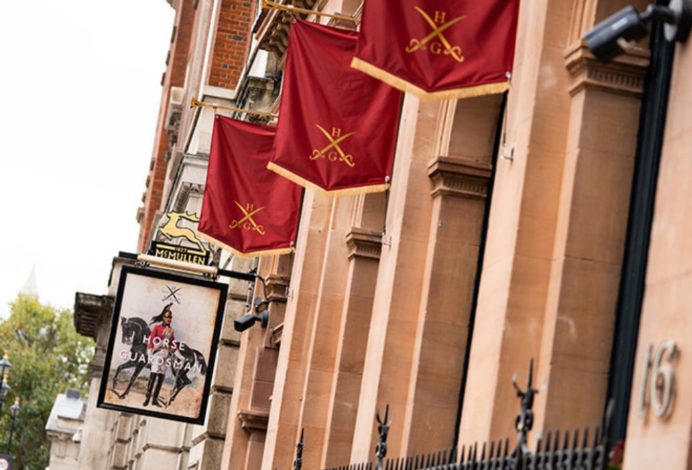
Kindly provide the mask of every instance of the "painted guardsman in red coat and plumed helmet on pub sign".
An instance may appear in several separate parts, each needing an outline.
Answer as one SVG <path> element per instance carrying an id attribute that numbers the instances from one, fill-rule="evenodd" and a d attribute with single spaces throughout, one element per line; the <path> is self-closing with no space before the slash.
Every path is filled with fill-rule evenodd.
<path id="1" fill-rule="evenodd" d="M 162 406 L 158 402 L 158 394 L 161 393 L 161 386 L 166 377 L 167 370 L 170 368 L 170 357 L 178 355 L 180 359 L 183 357 L 178 353 L 178 344 L 175 340 L 175 332 L 171 325 L 173 321 L 173 312 L 171 311 L 173 303 L 167 304 L 163 308 L 163 312 L 158 317 L 152 319 L 152 323 L 161 321 L 154 326 L 152 335 L 149 336 L 149 354 L 152 359 L 152 373 L 149 375 L 149 384 L 147 384 L 147 395 L 143 406 L 149 405 L 149 399 L 152 400 L 152 405 Z M 153 395 L 152 395 L 153 392 Z"/>

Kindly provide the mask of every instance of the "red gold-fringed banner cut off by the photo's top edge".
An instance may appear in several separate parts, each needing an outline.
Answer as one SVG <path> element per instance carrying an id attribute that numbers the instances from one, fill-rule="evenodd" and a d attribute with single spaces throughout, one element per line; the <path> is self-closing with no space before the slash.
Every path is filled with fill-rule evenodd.
<path id="1" fill-rule="evenodd" d="M 352 66 L 421 100 L 502 93 L 518 12 L 519 0 L 365 0 Z"/>

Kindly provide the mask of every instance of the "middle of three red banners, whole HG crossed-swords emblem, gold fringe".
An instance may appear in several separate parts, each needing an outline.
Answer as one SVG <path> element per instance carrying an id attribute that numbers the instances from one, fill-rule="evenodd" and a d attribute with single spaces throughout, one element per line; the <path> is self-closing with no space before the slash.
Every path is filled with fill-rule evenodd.
<path id="1" fill-rule="evenodd" d="M 351 68 L 357 32 L 291 24 L 269 169 L 322 194 L 384 191 L 401 93 Z"/>

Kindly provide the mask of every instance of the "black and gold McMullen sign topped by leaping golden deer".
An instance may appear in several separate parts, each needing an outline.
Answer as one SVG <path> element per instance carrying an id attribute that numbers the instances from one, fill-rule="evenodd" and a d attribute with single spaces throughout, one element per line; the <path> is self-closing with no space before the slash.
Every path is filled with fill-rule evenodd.
<path id="1" fill-rule="evenodd" d="M 190 220 L 190 222 L 199 223 L 197 214 L 167 212 L 166 215 L 168 216 L 168 222 L 165 223 L 163 227 L 158 228 L 158 233 L 165 236 L 168 240 L 185 238 L 188 242 L 197 245 L 197 248 L 152 240 L 148 254 L 158 256 L 159 258 L 181 261 L 183 263 L 207 265 L 209 263 L 209 252 L 205 249 L 204 245 L 202 245 L 202 241 L 197 238 L 197 235 L 194 234 L 194 230 L 190 227 L 180 227 L 178 225 L 181 220 Z"/>

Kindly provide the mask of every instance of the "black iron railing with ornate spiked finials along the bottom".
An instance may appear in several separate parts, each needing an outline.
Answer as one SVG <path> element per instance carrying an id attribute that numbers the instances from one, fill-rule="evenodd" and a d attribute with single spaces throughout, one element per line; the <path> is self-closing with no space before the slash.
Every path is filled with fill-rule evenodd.
<path id="1" fill-rule="evenodd" d="M 410 457 L 386 459 L 387 434 L 392 424 L 389 406 L 385 409 L 384 420 L 379 411 L 377 422 L 380 439 L 375 450 L 375 462 L 349 464 L 323 470 L 608 470 L 610 452 L 610 422 L 612 422 L 612 402 L 608 404 L 601 426 L 573 431 L 554 431 L 536 438 L 536 448 L 529 449 L 528 434 L 533 426 L 534 396 L 539 392 L 533 388 L 534 361 L 529 365 L 526 390 L 521 390 L 513 379 L 513 385 L 521 401 L 520 412 L 516 417 L 516 444 L 510 448 L 509 439 L 486 444 L 462 446 Z M 389 421 L 388 421 L 389 420 Z M 296 461 L 300 462 L 304 447 L 301 433 L 297 446 Z M 298 463 L 300 466 L 300 463 Z M 295 464 L 294 464 L 295 468 Z M 300 467 L 298 467 L 300 469 Z"/>

